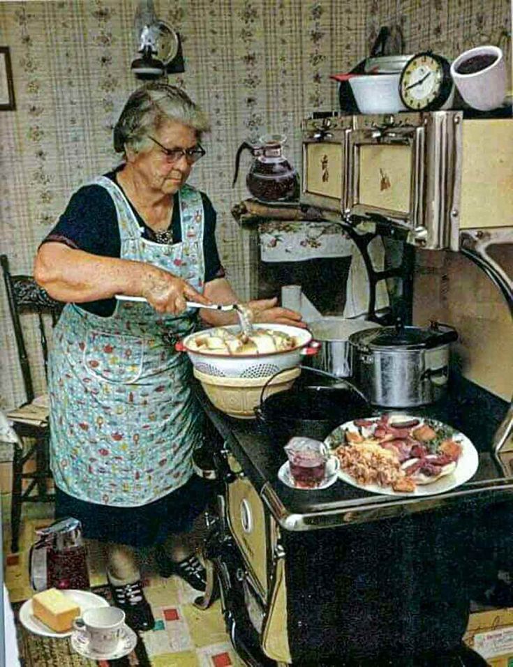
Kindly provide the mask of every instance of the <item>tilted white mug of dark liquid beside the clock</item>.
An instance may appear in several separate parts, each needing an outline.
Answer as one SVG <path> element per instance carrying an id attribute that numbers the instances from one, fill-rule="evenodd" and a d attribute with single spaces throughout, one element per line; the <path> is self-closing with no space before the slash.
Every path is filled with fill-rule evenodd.
<path id="1" fill-rule="evenodd" d="M 500 107 L 506 94 L 503 52 L 493 45 L 478 46 L 460 54 L 451 76 L 463 100 L 480 111 Z"/>

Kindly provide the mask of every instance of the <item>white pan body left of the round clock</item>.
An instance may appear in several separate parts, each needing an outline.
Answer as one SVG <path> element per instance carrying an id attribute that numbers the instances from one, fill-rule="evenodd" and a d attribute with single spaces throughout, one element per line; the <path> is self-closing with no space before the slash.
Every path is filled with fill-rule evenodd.
<path id="1" fill-rule="evenodd" d="M 401 73 L 356 75 L 349 80 L 362 114 L 394 114 L 406 110 L 399 96 Z"/>

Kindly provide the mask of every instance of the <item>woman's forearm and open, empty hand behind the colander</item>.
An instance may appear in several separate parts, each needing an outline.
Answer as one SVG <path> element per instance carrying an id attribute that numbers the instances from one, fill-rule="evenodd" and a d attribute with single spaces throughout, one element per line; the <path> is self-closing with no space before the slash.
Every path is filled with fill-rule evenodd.
<path id="1" fill-rule="evenodd" d="M 216 278 L 205 283 L 203 294 L 211 303 L 237 303 L 239 299 L 232 290 L 232 286 L 226 278 Z M 248 301 L 245 305 L 253 310 L 254 322 L 276 322 L 277 324 L 290 324 L 294 327 L 306 328 L 301 321 L 301 313 L 288 308 L 276 306 L 278 299 L 258 299 Z M 200 310 L 200 317 L 213 327 L 222 327 L 224 324 L 237 324 L 237 313 L 234 310 Z"/>

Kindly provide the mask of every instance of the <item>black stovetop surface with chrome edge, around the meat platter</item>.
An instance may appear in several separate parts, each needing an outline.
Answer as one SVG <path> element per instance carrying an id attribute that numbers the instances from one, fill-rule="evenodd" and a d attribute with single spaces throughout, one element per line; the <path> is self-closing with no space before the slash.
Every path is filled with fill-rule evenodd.
<path id="1" fill-rule="evenodd" d="M 302 531 L 448 509 L 455 505 L 472 509 L 513 500 L 513 471 L 507 464 L 507 455 L 501 461 L 494 458 L 491 451 L 493 435 L 507 411 L 507 403 L 461 377 L 452 377 L 449 387 L 445 400 L 405 412 L 432 417 L 461 430 L 479 453 L 479 467 L 466 484 L 439 495 L 417 497 L 376 495 L 340 480 L 323 490 L 305 492 L 289 488 L 277 477 L 279 467 L 287 460 L 285 452 L 272 442 L 262 426 L 255 420 L 228 417 L 216 410 L 204 395 L 201 403 L 277 523 L 285 530 Z M 202 394 L 199 386 L 198 392 Z M 374 414 L 387 411 L 392 412 L 374 410 Z"/>

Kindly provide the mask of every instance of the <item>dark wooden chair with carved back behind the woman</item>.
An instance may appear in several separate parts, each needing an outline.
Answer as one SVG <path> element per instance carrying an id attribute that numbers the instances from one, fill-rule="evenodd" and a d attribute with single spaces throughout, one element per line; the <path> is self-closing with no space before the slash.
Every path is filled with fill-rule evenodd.
<path id="1" fill-rule="evenodd" d="M 13 497 L 11 506 L 11 550 L 18 550 L 20 520 L 24 502 L 52 502 L 54 494 L 48 493 L 47 481 L 51 479 L 48 443 L 47 396 L 36 397 L 29 355 L 22 330 L 21 317 L 25 313 L 36 313 L 39 342 L 47 375 L 48 343 L 47 324 L 43 315 L 50 314 L 52 327 L 57 323 L 64 303 L 51 299 L 31 276 L 13 276 L 9 271 L 6 255 L 0 255 L 3 280 L 6 285 L 10 316 L 13 322 L 16 347 L 27 400 L 7 413 L 22 444 L 14 444 L 13 451 Z M 25 464 L 35 460 L 35 470 L 24 472 Z M 27 480 L 26 488 L 23 481 Z"/>

